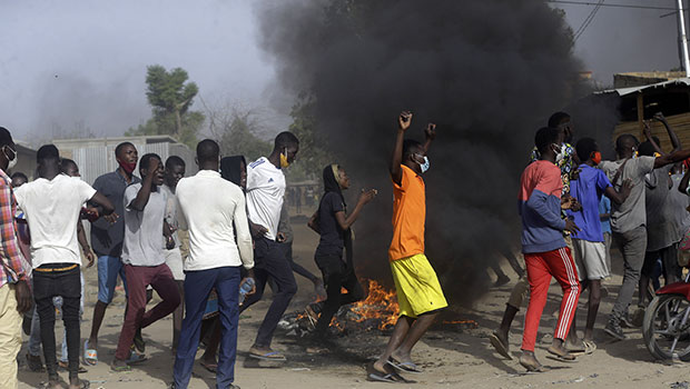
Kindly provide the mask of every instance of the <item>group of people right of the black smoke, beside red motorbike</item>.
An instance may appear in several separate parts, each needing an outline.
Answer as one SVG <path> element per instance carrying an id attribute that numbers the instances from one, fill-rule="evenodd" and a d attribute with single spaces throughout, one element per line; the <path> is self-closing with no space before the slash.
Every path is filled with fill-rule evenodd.
<path id="1" fill-rule="evenodd" d="M 490 337 L 496 351 L 512 359 L 509 331 L 529 295 L 520 357 L 528 371 L 546 370 L 534 355 L 534 343 L 552 278 L 563 298 L 548 352 L 561 361 L 574 361 L 597 349 L 594 325 L 601 299 L 608 296 L 603 283 L 611 278 L 612 243 L 623 258 L 623 282 L 603 328 L 608 336 L 624 340 L 622 327 L 641 326 L 650 289 L 659 288 L 660 275 L 666 283 L 681 279 L 687 255 L 679 253 L 679 248 L 687 250 L 681 242 L 688 240 L 690 228 L 690 150 L 682 150 L 663 114 L 657 113 L 653 120 L 664 126 L 672 150 L 661 150 L 644 121 L 645 141 L 621 134 L 614 161 L 602 161 L 592 138 L 579 139 L 572 147 L 574 127 L 568 113 L 554 113 L 548 127 L 535 133 L 519 194 L 526 275 L 513 288 L 501 325 Z M 639 309 L 630 315 L 635 288 Z M 580 339 L 575 311 L 586 289 L 588 313 Z"/>

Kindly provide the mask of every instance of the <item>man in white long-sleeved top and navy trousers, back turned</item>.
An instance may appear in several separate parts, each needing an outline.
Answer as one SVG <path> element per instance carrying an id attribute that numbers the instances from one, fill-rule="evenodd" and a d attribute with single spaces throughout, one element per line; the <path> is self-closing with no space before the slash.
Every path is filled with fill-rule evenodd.
<path id="1" fill-rule="evenodd" d="M 178 389 L 189 385 L 206 300 L 214 288 L 223 325 L 216 387 L 236 388 L 233 381 L 240 267 L 244 266 L 248 278 L 253 278 L 254 253 L 245 196 L 241 188 L 220 177 L 218 161 L 218 143 L 210 139 L 200 141 L 197 146 L 199 172 L 183 178 L 176 189 L 179 227 L 189 230 L 189 257 L 184 265 L 187 315 L 174 369 L 174 388 Z"/>

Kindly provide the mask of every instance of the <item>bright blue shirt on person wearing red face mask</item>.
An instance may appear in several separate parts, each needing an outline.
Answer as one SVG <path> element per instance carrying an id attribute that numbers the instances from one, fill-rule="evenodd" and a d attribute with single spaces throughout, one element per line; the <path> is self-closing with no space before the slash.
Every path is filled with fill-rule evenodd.
<path id="1" fill-rule="evenodd" d="M 570 183 L 570 196 L 582 205 L 582 210 L 568 210 L 568 217 L 580 227 L 580 232 L 573 233 L 575 239 L 591 242 L 602 242 L 601 221 L 599 219 L 599 201 L 601 194 L 611 186 L 607 174 L 589 164 L 580 164 L 580 176 Z"/>

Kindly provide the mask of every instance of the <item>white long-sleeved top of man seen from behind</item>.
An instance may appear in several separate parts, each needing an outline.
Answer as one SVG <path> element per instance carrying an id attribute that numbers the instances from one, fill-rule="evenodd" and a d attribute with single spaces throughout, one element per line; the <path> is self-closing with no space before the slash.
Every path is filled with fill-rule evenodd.
<path id="1" fill-rule="evenodd" d="M 238 186 L 223 179 L 217 171 L 199 170 L 179 180 L 175 196 L 179 227 L 189 230 L 186 271 L 254 267 L 245 194 Z"/>

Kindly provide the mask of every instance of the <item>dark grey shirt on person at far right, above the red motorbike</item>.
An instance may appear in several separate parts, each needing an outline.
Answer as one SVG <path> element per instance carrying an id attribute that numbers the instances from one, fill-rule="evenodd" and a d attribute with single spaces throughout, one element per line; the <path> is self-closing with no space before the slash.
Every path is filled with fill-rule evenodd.
<path id="1" fill-rule="evenodd" d="M 644 177 L 647 251 L 661 250 L 680 240 L 671 201 L 673 184 L 669 172 L 672 167 L 664 166 Z"/>

